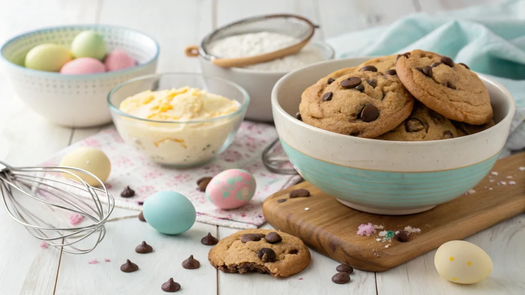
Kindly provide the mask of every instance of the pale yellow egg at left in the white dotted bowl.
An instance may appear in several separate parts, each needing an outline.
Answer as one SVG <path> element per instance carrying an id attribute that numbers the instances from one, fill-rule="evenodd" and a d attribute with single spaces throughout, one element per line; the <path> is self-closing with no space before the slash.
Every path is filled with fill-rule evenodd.
<path id="1" fill-rule="evenodd" d="M 34 70 L 58 72 L 72 59 L 71 52 L 56 44 L 40 44 L 27 52 L 25 67 Z"/>

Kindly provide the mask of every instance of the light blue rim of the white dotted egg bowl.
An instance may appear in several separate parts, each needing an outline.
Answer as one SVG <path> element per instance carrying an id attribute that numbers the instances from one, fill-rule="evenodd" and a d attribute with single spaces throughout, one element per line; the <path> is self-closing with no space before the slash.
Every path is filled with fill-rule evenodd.
<path id="1" fill-rule="evenodd" d="M 5 47 L 7 47 L 9 44 L 11 44 L 14 41 L 16 41 L 16 40 L 18 40 L 18 39 L 20 39 L 22 37 L 25 37 L 25 36 L 27 36 L 29 34 L 35 34 L 35 33 L 48 31 L 48 30 L 53 30 L 53 29 L 86 28 L 86 30 L 88 30 L 90 28 L 92 29 L 92 28 L 97 28 L 97 27 L 99 27 L 99 28 L 116 28 L 116 29 L 133 31 L 134 33 L 139 33 L 139 34 L 141 34 L 141 35 L 143 35 L 143 36 L 145 36 L 145 37 L 147 37 L 147 38 L 149 38 L 150 40 L 153 41 L 153 43 L 155 44 L 155 47 L 156 47 L 155 55 L 150 60 L 144 62 L 144 64 L 139 64 L 139 65 L 131 67 L 131 68 L 121 69 L 121 70 L 117 70 L 117 71 L 102 72 L 102 73 L 91 73 L 91 74 L 81 74 L 81 75 L 67 75 L 67 74 L 63 74 L 63 73 L 60 73 L 60 72 L 40 71 L 40 70 L 29 69 L 29 68 L 26 68 L 26 67 L 23 67 L 23 66 L 19 66 L 19 65 L 15 64 L 14 62 L 12 62 L 12 61 L 8 60 L 7 58 L 5 58 L 4 55 L 2 54 L 2 52 L 4 52 Z M 43 28 L 40 28 L 40 29 L 30 30 L 30 31 L 26 31 L 25 33 L 22 33 L 22 34 L 15 35 L 14 37 L 11 37 L 7 41 L 5 41 L 4 44 L 2 44 L 2 47 L 0 47 L 0 59 L 2 59 L 4 62 L 6 62 L 6 64 L 8 64 L 9 66 L 28 71 L 30 73 L 34 73 L 36 75 L 62 77 L 62 78 L 76 78 L 76 79 L 95 78 L 95 77 L 110 77 L 110 76 L 118 75 L 118 74 L 125 73 L 125 72 L 131 72 L 133 70 L 144 68 L 144 67 L 147 67 L 147 66 L 153 64 L 159 58 L 159 54 L 160 54 L 159 42 L 157 40 L 155 40 L 155 38 L 153 38 L 150 35 L 144 33 L 143 31 L 132 29 L 132 28 L 128 28 L 128 27 L 123 27 L 123 26 L 100 25 L 100 24 L 79 24 L 79 25 L 43 27 Z"/>

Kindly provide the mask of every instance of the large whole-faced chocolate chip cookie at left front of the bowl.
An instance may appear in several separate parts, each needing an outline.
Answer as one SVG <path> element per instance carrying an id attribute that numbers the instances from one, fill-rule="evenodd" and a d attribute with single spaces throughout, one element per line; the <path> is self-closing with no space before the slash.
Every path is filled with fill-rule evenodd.
<path id="1" fill-rule="evenodd" d="M 303 122 L 374 138 L 394 129 L 412 112 L 414 99 L 397 76 L 358 69 L 333 79 L 328 84 L 327 78 L 322 78 L 304 90 L 299 105 Z"/>

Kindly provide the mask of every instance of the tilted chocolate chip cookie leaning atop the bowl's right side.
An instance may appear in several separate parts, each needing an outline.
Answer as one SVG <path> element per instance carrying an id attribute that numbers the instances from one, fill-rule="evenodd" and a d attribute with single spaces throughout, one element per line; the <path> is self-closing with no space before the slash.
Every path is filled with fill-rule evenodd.
<path id="1" fill-rule="evenodd" d="M 478 125 L 492 119 L 487 88 L 466 65 L 414 50 L 399 56 L 396 71 L 417 100 L 446 118 Z"/>

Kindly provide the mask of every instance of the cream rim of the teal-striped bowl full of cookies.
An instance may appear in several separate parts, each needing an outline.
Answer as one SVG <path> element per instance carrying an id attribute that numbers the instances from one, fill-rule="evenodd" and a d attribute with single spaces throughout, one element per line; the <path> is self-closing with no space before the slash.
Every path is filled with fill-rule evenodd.
<path id="1" fill-rule="evenodd" d="M 316 63 L 311 64 L 311 65 L 302 67 L 300 69 L 291 71 L 291 72 L 287 73 L 285 76 L 281 77 L 277 81 L 277 83 L 275 83 L 274 88 L 271 90 L 271 104 L 272 104 L 272 107 L 274 107 L 275 110 L 277 110 L 279 115 L 285 117 L 289 122 L 292 122 L 292 123 L 295 123 L 295 124 L 299 124 L 299 126 L 301 126 L 303 128 L 308 128 L 308 129 L 310 129 L 313 132 L 320 132 L 323 135 L 336 136 L 336 137 L 339 137 L 341 139 L 352 139 L 352 140 L 355 140 L 355 141 L 358 141 L 358 142 L 362 142 L 362 143 L 368 142 L 368 143 L 384 144 L 384 145 L 412 145 L 412 146 L 414 146 L 414 145 L 430 146 L 430 145 L 434 145 L 436 142 L 443 142 L 443 141 L 447 141 L 447 142 L 453 143 L 453 142 L 457 142 L 457 141 L 466 140 L 465 138 L 467 138 L 467 140 L 468 140 L 469 138 L 472 138 L 470 136 L 484 136 L 485 134 L 491 132 L 490 131 L 491 129 L 493 129 L 493 128 L 497 127 L 497 126 L 500 126 L 502 124 L 505 124 L 505 123 L 507 123 L 507 121 L 512 120 L 512 118 L 514 116 L 514 113 L 516 112 L 516 101 L 514 100 L 514 97 L 512 96 L 512 93 L 510 93 L 509 90 L 507 90 L 507 88 L 505 88 L 503 85 L 501 85 L 501 83 L 499 83 L 498 81 L 493 80 L 490 77 L 488 77 L 487 75 L 484 75 L 484 74 L 476 72 L 476 71 L 474 71 L 474 72 L 476 73 L 476 75 L 478 75 L 478 77 L 481 79 L 481 81 L 483 81 L 484 83 L 487 82 L 487 83 L 492 84 L 493 86 L 495 86 L 498 90 L 500 90 L 503 93 L 503 97 L 505 97 L 505 100 L 507 102 L 509 102 L 509 104 L 510 104 L 507 114 L 505 115 L 505 117 L 503 117 L 503 119 L 501 119 L 494 126 L 488 128 L 488 129 L 485 129 L 485 130 L 483 130 L 481 132 L 478 132 L 478 133 L 475 133 L 475 134 L 466 135 L 466 136 L 461 136 L 461 137 L 458 137 L 458 138 L 443 139 L 443 140 L 439 140 L 439 141 L 436 141 L 436 140 L 431 140 L 431 141 L 393 141 L 393 140 L 391 140 L 391 141 L 389 141 L 389 140 L 377 140 L 377 139 L 370 139 L 370 138 L 359 138 L 359 137 L 356 137 L 356 136 L 349 136 L 349 135 L 344 135 L 344 134 L 340 134 L 340 133 L 331 132 L 331 131 L 328 131 L 328 130 L 324 130 L 324 129 L 320 129 L 320 128 L 314 127 L 312 125 L 304 123 L 303 121 L 297 120 L 295 117 L 292 117 L 292 115 L 288 114 L 280 106 L 280 104 L 279 104 L 279 102 L 277 100 L 277 91 L 278 91 L 278 89 L 283 87 L 283 85 L 285 84 L 285 81 L 287 79 L 289 79 L 289 77 L 291 77 L 293 75 L 296 75 L 300 71 L 306 70 L 306 69 L 308 69 L 310 67 L 317 67 L 317 66 L 320 66 L 321 64 L 325 64 L 325 63 L 332 63 L 332 62 L 335 63 L 335 62 L 341 62 L 341 61 L 352 61 L 352 60 L 355 60 L 355 59 L 376 58 L 376 57 L 377 56 L 363 56 L 363 57 L 352 57 L 352 58 L 343 58 L 343 59 L 334 59 L 334 60 L 323 60 L 323 61 L 319 61 L 319 62 L 316 62 Z"/>

